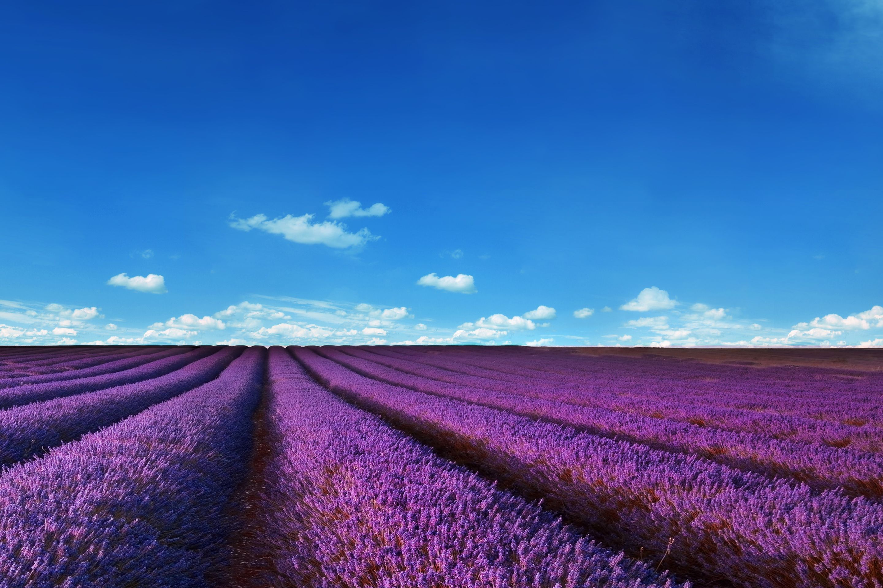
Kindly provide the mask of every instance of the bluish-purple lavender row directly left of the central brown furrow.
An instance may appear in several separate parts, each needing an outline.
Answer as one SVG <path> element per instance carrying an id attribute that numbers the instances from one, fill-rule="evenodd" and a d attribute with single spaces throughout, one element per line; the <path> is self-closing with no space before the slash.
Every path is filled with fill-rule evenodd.
<path id="1" fill-rule="evenodd" d="M 265 355 L 253 347 L 215 381 L 5 472 L 0 585 L 214 585 Z"/>

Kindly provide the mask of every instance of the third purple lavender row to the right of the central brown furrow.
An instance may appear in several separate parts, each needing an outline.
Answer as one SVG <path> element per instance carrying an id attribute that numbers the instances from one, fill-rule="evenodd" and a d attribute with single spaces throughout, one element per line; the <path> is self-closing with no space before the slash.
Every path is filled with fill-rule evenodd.
<path id="1" fill-rule="evenodd" d="M 883 458 L 877 455 L 830 447 L 808 448 L 804 443 L 780 441 L 766 435 L 731 433 L 636 414 L 572 406 L 560 402 L 550 391 L 532 392 L 531 384 L 536 384 L 535 380 L 523 383 L 518 394 L 463 383 L 455 385 L 423 376 L 423 372 L 432 375 L 441 371 L 438 368 L 383 358 L 353 348 L 345 349 L 348 354 L 342 351 L 324 347 L 317 353 L 359 374 L 410 390 L 458 398 L 655 449 L 694 454 L 740 470 L 803 480 L 812 488 L 841 488 L 850 495 L 883 497 Z"/>

